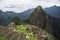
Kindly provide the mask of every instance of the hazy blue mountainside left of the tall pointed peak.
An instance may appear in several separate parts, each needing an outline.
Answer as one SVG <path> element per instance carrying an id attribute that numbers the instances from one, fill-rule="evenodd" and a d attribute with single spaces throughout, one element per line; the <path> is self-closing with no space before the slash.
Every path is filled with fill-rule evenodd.
<path id="1" fill-rule="evenodd" d="M 15 13 L 12 11 L 3 12 L 2 10 L 0 10 L 0 25 L 8 25 L 16 16 L 18 16 L 20 19 L 28 18 L 33 10 L 34 9 L 32 8 L 21 13 Z"/>

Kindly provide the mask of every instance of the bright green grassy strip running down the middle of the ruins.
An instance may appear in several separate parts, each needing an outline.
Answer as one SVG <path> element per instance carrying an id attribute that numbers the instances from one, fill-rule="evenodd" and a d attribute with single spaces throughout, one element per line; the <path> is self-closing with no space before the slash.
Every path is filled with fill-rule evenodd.
<path id="1" fill-rule="evenodd" d="M 29 36 L 29 40 L 37 40 L 37 37 L 32 35 L 31 34 L 32 32 L 29 32 L 27 30 L 27 27 L 25 27 L 23 25 L 17 26 L 17 32 L 24 33 L 24 34 L 28 35 Z"/>

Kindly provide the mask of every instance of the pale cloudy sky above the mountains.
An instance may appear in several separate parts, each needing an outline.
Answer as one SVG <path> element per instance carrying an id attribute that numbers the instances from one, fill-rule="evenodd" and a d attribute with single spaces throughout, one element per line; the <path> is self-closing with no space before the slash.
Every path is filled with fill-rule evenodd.
<path id="1" fill-rule="evenodd" d="M 53 5 L 60 6 L 60 0 L 0 0 L 0 9 L 3 11 L 22 12 L 38 5 L 43 8 Z"/>

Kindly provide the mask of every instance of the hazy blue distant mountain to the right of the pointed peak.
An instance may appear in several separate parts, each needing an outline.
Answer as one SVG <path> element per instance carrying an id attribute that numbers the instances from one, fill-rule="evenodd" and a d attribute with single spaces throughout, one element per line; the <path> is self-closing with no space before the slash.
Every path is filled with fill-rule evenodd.
<path id="1" fill-rule="evenodd" d="M 60 18 L 60 6 L 51 6 L 44 9 L 49 15 Z"/>

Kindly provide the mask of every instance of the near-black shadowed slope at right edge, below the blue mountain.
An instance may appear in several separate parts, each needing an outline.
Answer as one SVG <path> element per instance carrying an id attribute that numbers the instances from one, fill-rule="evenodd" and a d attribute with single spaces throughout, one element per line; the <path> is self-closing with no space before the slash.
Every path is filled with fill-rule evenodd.
<path id="1" fill-rule="evenodd" d="M 52 17 L 52 33 L 55 37 L 57 37 L 57 40 L 60 40 L 60 19 Z"/>

